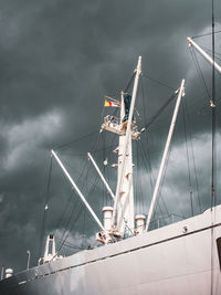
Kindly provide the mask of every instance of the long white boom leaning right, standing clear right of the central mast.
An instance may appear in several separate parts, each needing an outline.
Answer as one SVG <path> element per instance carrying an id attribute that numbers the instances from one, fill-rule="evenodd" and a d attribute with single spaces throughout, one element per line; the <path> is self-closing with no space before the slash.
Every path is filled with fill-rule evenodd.
<path id="1" fill-rule="evenodd" d="M 151 200 L 150 208 L 149 208 L 149 213 L 148 213 L 148 217 L 147 217 L 147 223 L 146 223 L 145 231 L 149 230 L 149 223 L 150 223 L 150 220 L 151 220 L 151 217 L 152 217 L 152 213 L 154 213 L 155 203 L 156 203 L 157 194 L 158 194 L 158 190 L 159 190 L 159 185 L 160 185 L 160 181 L 161 181 L 162 171 L 164 171 L 164 168 L 165 168 L 165 164 L 166 164 L 166 159 L 167 159 L 170 141 L 171 141 L 171 138 L 172 138 L 172 133 L 173 133 L 173 129 L 175 129 L 175 124 L 176 124 L 177 114 L 178 114 L 178 110 L 179 110 L 181 97 L 183 95 L 183 89 L 185 89 L 185 80 L 182 80 L 181 86 L 179 88 L 179 95 L 178 95 L 177 103 L 176 103 L 176 106 L 175 106 L 175 112 L 173 112 L 173 116 L 172 116 L 172 119 L 171 119 L 170 129 L 169 129 L 168 137 L 167 137 L 167 143 L 166 143 L 166 146 L 165 146 L 165 151 L 164 151 L 164 155 L 162 155 L 162 159 L 161 159 L 161 164 L 160 164 L 160 168 L 159 168 L 159 173 L 158 173 L 158 177 L 157 177 L 157 182 L 156 182 L 156 186 L 155 186 L 155 190 L 154 190 L 152 200 Z"/>

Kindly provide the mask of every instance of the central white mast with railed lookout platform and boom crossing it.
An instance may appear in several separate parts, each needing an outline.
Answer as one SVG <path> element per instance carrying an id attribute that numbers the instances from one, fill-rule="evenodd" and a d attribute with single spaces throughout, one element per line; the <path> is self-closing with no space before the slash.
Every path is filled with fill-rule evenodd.
<path id="1" fill-rule="evenodd" d="M 119 136 L 119 145 L 115 149 L 117 160 L 117 188 L 114 200 L 112 229 L 124 234 L 125 228 L 134 231 L 134 190 L 133 190 L 133 151 L 131 139 L 139 139 L 140 133 L 133 119 L 139 75 L 141 73 L 141 56 L 135 69 L 133 95 L 122 92 L 120 118 L 106 116 L 102 130 Z"/>

